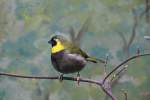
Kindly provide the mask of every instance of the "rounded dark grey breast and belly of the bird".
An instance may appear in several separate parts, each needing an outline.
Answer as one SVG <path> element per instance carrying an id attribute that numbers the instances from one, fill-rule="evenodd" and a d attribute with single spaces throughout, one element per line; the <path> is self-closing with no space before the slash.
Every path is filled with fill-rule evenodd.
<path id="1" fill-rule="evenodd" d="M 80 71 L 86 64 L 86 60 L 80 54 L 70 54 L 62 51 L 51 56 L 54 68 L 61 73 L 73 73 Z"/>

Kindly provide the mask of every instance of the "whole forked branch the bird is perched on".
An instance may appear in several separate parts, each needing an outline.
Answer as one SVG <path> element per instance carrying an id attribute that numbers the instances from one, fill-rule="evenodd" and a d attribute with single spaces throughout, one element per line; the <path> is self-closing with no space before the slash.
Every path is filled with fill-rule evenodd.
<path id="1" fill-rule="evenodd" d="M 117 100 L 117 98 L 112 94 L 112 89 L 111 89 L 111 85 L 109 82 L 105 82 L 107 80 L 107 78 L 113 73 L 115 72 L 118 68 L 120 68 L 123 64 L 131 61 L 132 59 L 138 58 L 138 57 L 142 57 L 142 56 L 148 56 L 150 55 L 149 53 L 147 54 L 142 54 L 142 55 L 136 55 L 133 56 L 127 60 L 125 60 L 124 62 L 122 62 L 121 64 L 119 64 L 118 66 L 116 66 L 110 73 L 107 74 L 107 76 L 103 79 L 103 81 L 97 81 L 97 80 L 92 80 L 92 79 L 88 79 L 88 78 L 80 78 L 79 80 L 76 77 L 63 77 L 63 80 L 70 80 L 70 81 L 80 81 L 80 82 L 84 82 L 84 83 L 91 83 L 91 84 L 96 84 L 98 86 L 101 87 L 101 89 L 112 99 L 112 100 Z M 16 77 L 16 78 L 28 78 L 28 79 L 50 79 L 50 80 L 59 80 L 59 76 L 25 76 L 25 75 L 17 75 L 17 74 L 9 74 L 9 73 L 2 73 L 0 72 L 0 76 L 9 76 L 9 77 Z"/>

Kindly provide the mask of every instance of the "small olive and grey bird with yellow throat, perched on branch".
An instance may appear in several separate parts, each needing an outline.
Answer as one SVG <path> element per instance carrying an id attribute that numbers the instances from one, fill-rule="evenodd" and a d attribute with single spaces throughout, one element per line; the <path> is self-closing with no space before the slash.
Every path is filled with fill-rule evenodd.
<path id="1" fill-rule="evenodd" d="M 48 41 L 51 45 L 51 62 L 54 69 L 61 73 L 60 80 L 62 80 L 64 74 L 78 73 L 77 78 L 79 80 L 79 72 L 85 67 L 87 62 L 97 63 L 103 62 L 95 57 L 89 56 L 80 47 L 70 42 L 62 35 L 54 35 Z"/>

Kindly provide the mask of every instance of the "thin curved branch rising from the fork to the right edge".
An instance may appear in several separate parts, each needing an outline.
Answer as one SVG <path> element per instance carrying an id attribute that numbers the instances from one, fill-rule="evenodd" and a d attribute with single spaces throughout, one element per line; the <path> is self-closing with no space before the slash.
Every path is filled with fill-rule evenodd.
<path id="1" fill-rule="evenodd" d="M 135 58 L 142 57 L 142 56 L 150 56 L 150 53 L 145 53 L 145 54 L 141 54 L 141 55 L 135 55 L 135 56 L 132 56 L 132 57 L 128 58 L 127 60 L 123 61 L 122 63 L 117 65 L 110 73 L 107 74 L 107 76 L 103 80 L 103 84 L 105 83 L 106 79 L 109 76 L 111 76 L 111 74 L 114 73 L 117 69 L 119 69 L 122 65 L 126 64 L 127 62 L 129 62 L 129 61 L 131 61 L 131 60 L 133 60 Z"/>

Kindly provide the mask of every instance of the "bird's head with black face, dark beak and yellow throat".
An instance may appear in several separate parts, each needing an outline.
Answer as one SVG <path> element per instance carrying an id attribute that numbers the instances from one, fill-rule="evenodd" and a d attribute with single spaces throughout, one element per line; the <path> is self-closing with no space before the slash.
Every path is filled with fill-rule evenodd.
<path id="1" fill-rule="evenodd" d="M 64 42 L 66 42 L 67 40 L 61 36 L 61 35 L 55 35 L 53 36 L 48 43 L 51 44 L 52 48 L 51 48 L 51 53 L 57 53 L 59 51 L 62 51 L 65 49 L 65 45 Z"/>

